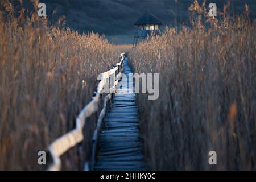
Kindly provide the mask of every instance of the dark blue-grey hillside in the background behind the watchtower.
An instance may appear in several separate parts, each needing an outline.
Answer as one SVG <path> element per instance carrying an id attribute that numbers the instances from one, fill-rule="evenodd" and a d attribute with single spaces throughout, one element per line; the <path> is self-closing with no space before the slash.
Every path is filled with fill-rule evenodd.
<path id="1" fill-rule="evenodd" d="M 13 0 L 12 2 L 19 2 Z M 47 5 L 47 15 L 52 21 L 65 15 L 67 26 L 82 31 L 94 31 L 100 34 L 105 33 L 113 40 L 133 38 L 133 23 L 145 12 L 150 11 L 160 19 L 164 25 L 175 26 L 176 22 L 188 24 L 188 7 L 193 0 L 42 0 Z M 199 1 L 201 4 L 203 1 Z M 218 9 L 222 9 L 226 0 L 216 0 Z M 31 7 L 28 0 L 23 1 L 24 5 Z M 207 5 L 210 1 L 207 1 Z M 250 15 L 255 18 L 255 0 L 233 0 L 230 1 L 230 9 L 236 14 L 245 10 L 245 3 L 249 5 Z M 53 17 L 52 12 L 56 10 Z M 232 13 L 233 14 L 233 13 Z"/>

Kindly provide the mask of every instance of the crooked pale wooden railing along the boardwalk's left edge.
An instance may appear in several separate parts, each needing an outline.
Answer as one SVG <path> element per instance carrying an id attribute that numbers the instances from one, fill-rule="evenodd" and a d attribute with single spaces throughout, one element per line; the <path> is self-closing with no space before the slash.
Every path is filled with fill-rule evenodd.
<path id="1" fill-rule="evenodd" d="M 49 165 L 48 170 L 50 171 L 59 171 L 61 169 L 61 160 L 60 156 L 67 152 L 70 148 L 76 146 L 76 144 L 82 142 L 84 140 L 83 129 L 85 126 L 86 118 L 89 118 L 93 113 L 99 110 L 98 105 L 100 101 L 100 95 L 102 94 L 103 90 L 106 89 L 104 86 L 106 84 L 110 85 L 108 88 L 108 93 L 104 98 L 104 106 L 100 112 L 100 115 L 97 119 L 97 126 L 96 130 L 93 133 L 93 143 L 92 143 L 92 162 L 90 166 L 94 165 L 94 157 L 96 151 L 96 141 L 98 136 L 98 131 L 100 130 L 102 119 L 106 113 L 106 105 L 107 102 L 112 98 L 112 93 L 115 92 L 115 86 L 118 83 L 119 73 L 123 67 L 123 60 L 125 59 L 125 53 L 121 53 L 120 55 L 121 61 L 115 66 L 106 71 L 101 73 L 101 81 L 97 85 L 96 92 L 92 97 L 92 101 L 89 102 L 88 105 L 82 109 L 80 114 L 76 118 L 76 127 L 75 129 L 69 131 L 67 134 L 64 134 L 60 138 L 56 139 L 49 147 L 48 152 L 52 157 L 52 163 Z M 108 83 L 106 83 L 108 82 Z"/>

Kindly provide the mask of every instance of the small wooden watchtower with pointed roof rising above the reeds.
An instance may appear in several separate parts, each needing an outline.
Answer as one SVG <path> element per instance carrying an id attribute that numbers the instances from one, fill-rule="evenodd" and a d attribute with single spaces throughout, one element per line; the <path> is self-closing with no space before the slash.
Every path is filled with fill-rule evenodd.
<path id="1" fill-rule="evenodd" d="M 134 25 L 137 26 L 137 32 L 134 35 L 133 48 L 137 46 L 139 39 L 144 40 L 151 36 L 160 35 L 160 25 L 162 25 L 162 22 L 155 15 L 146 13 Z"/>

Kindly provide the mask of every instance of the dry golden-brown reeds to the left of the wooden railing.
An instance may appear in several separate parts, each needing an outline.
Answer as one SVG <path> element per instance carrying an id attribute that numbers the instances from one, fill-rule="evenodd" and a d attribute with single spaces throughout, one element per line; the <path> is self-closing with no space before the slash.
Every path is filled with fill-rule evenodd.
<path id="1" fill-rule="evenodd" d="M 9 19 L 0 15 L 0 169 L 43 169 L 38 151 L 73 129 L 98 73 L 119 61 L 118 51 L 93 32 L 48 27 L 36 13 L 14 18 L 10 4 L 6 9 Z M 86 146 L 93 127 L 94 121 L 85 126 Z M 64 169 L 81 169 L 75 152 L 64 156 Z"/>

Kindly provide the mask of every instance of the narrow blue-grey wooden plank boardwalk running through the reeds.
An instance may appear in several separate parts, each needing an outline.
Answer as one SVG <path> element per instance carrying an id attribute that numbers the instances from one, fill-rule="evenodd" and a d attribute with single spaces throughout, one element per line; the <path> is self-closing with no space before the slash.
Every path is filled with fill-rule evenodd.
<path id="1" fill-rule="evenodd" d="M 125 58 L 123 69 L 123 73 L 127 76 L 127 86 L 122 85 L 117 89 L 111 108 L 105 116 L 104 128 L 98 140 L 99 152 L 94 166 L 95 170 L 141 171 L 146 169 L 142 142 L 139 138 L 138 107 L 135 102 L 134 84 L 129 82 L 129 73 L 133 71 L 127 64 L 127 58 Z"/>

